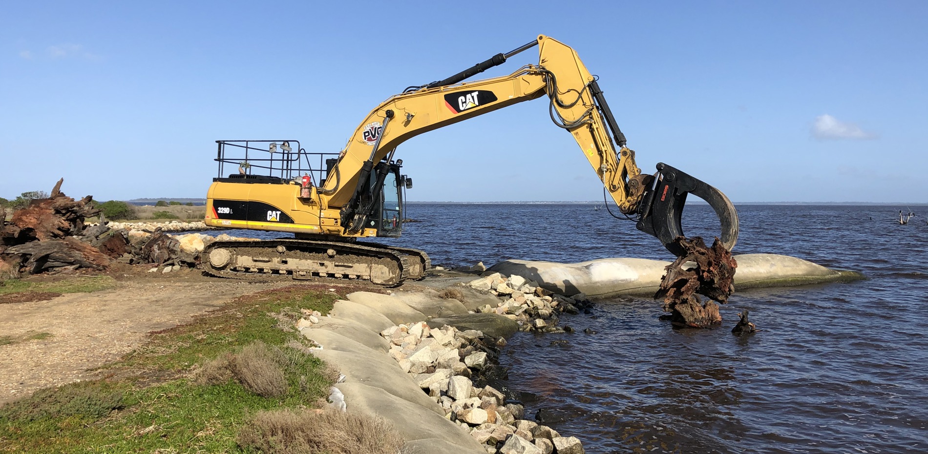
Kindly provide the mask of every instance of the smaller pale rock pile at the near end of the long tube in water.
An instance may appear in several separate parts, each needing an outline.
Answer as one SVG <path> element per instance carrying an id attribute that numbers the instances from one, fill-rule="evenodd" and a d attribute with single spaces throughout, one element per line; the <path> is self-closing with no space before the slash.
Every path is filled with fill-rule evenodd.
<path id="1" fill-rule="evenodd" d="M 481 279 L 468 282 L 474 290 L 491 292 L 496 296 L 506 298 L 493 307 L 483 305 L 479 308 L 482 313 L 496 313 L 506 318 L 516 320 L 520 331 L 570 331 L 569 327 L 558 328 L 558 315 L 561 313 L 579 314 L 589 304 L 583 293 L 573 296 L 563 296 L 548 292 L 538 286 L 534 280 L 527 280 L 522 276 L 509 276 L 509 278 L 492 273 Z"/>

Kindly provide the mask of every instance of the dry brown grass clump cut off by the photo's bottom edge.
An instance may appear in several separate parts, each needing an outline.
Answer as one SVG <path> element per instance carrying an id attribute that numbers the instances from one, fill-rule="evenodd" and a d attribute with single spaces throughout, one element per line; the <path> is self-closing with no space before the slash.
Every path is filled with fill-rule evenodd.
<path id="1" fill-rule="evenodd" d="M 265 454 L 395 454 L 403 446 L 390 422 L 338 409 L 261 411 L 237 441 Z"/>

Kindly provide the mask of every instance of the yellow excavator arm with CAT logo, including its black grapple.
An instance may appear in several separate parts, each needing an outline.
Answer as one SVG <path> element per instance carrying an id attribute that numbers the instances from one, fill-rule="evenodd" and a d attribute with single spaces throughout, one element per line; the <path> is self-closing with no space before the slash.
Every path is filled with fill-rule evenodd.
<path id="1" fill-rule="evenodd" d="M 507 76 L 464 82 L 538 46 L 537 65 L 526 65 Z M 677 255 L 675 240 L 683 235 L 681 214 L 688 194 L 715 210 L 722 227 L 720 238 L 728 250 L 738 239 L 738 216 L 731 201 L 718 189 L 674 167 L 659 163 L 654 175 L 641 175 L 635 151 L 625 146 L 625 135 L 599 89 L 573 48 L 545 35 L 508 54 L 497 54 L 443 81 L 409 87 L 371 110 L 354 131 L 334 169 L 335 178 L 316 188 L 329 208 L 341 209 L 346 233 L 363 228 L 373 207 L 360 194 L 376 164 L 392 161 L 396 147 L 413 136 L 513 104 L 548 97 L 551 120 L 574 136 L 586 160 L 612 196 L 619 211 L 638 221 L 638 229 L 664 243 Z M 382 173 L 382 172 L 381 172 Z M 378 175 L 375 188 L 382 186 Z M 320 200 L 320 204 L 323 201 Z"/>

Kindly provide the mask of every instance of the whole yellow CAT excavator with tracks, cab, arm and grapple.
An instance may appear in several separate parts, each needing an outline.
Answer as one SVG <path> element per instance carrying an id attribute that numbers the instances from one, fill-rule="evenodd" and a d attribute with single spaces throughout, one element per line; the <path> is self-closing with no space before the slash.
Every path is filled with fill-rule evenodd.
<path id="1" fill-rule="evenodd" d="M 465 82 L 538 46 L 536 65 L 507 76 Z M 421 279 L 428 254 L 366 239 L 397 238 L 404 189 L 412 179 L 393 159 L 407 139 L 448 124 L 548 97 L 551 120 L 574 136 L 618 211 L 676 255 L 688 194 L 707 201 L 730 251 L 738 216 L 728 198 L 664 163 L 642 175 L 625 146 L 598 78 L 573 48 L 545 35 L 445 80 L 410 86 L 388 98 L 354 130 L 340 153 L 312 153 L 298 140 L 217 140 L 219 173 L 206 202 L 206 225 L 290 232 L 293 238 L 216 241 L 202 254 L 209 274 L 237 279 L 360 279 L 398 285 Z M 226 175 L 228 172 L 228 175 Z"/>

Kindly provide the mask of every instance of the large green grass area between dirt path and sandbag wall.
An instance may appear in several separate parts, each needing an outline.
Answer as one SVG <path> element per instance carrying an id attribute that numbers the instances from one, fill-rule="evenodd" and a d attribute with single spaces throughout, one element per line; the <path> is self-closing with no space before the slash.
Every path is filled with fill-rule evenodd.
<path id="1" fill-rule="evenodd" d="M 239 429 L 258 411 L 316 406 L 334 377 L 305 354 L 303 337 L 280 329 L 302 310 L 328 313 L 338 296 L 306 286 L 233 300 L 186 325 L 152 333 L 106 379 L 45 390 L 0 408 L 0 452 L 253 452 Z M 208 365 L 264 344 L 286 389 L 260 396 L 235 377 L 198 380 Z M 260 348 L 260 347 L 259 347 Z"/>

